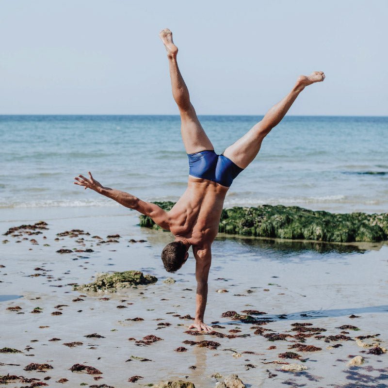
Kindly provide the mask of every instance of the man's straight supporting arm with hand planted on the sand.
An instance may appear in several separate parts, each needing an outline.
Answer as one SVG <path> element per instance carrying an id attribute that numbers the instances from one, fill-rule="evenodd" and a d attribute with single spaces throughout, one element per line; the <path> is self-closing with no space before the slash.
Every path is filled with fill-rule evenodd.
<path id="1" fill-rule="evenodd" d="M 197 280 L 197 293 L 195 298 L 196 309 L 194 323 L 189 329 L 195 328 L 198 331 L 211 331 L 212 328 L 203 323 L 206 302 L 208 300 L 208 276 L 211 264 L 210 246 L 202 249 L 193 249 L 195 264 L 195 278 Z"/>

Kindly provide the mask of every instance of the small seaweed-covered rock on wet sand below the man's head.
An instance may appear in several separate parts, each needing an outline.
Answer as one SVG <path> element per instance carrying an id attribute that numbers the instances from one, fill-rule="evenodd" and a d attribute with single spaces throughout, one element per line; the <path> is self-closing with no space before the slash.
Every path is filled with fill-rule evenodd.
<path id="1" fill-rule="evenodd" d="M 118 289 L 135 287 L 141 284 L 151 284 L 157 281 L 157 277 L 143 275 L 141 271 L 124 271 L 99 275 L 94 282 L 76 285 L 73 289 L 77 291 L 116 292 Z"/>

